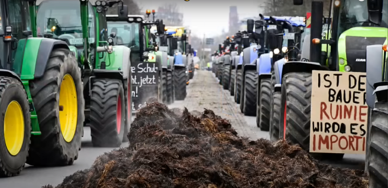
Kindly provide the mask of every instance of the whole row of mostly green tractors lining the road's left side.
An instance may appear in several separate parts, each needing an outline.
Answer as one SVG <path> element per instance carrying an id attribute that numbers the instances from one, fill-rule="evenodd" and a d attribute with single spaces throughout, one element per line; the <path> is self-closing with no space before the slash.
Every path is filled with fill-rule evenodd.
<path id="1" fill-rule="evenodd" d="M 117 7 L 117 15 L 107 15 Z M 123 1 L 0 1 L 0 176 L 25 163 L 72 165 L 83 127 L 119 147 L 151 97 L 184 100 L 193 49 L 184 28 L 128 15 Z M 116 8 L 115 8 L 116 9 Z"/>

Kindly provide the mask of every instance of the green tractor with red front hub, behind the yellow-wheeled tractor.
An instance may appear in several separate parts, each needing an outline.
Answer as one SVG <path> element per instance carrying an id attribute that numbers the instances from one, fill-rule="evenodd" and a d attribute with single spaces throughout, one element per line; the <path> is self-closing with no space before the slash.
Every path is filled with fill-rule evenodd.
<path id="1" fill-rule="evenodd" d="M 127 17 L 122 1 L 48 0 L 37 10 L 38 36 L 67 43 L 77 57 L 94 147 L 119 147 L 130 124 L 130 49 L 112 46 L 107 29 L 105 12 L 114 4 Z"/>

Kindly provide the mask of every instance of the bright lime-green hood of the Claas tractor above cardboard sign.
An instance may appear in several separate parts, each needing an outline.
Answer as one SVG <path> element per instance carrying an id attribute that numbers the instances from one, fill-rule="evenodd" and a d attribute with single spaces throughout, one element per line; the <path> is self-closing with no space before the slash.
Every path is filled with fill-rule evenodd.
<path id="1" fill-rule="evenodd" d="M 338 58 L 345 61 L 339 64 L 340 71 L 349 65 L 352 72 L 366 72 L 366 46 L 386 44 L 387 37 L 388 28 L 382 27 L 353 27 L 343 32 L 338 38 Z"/>

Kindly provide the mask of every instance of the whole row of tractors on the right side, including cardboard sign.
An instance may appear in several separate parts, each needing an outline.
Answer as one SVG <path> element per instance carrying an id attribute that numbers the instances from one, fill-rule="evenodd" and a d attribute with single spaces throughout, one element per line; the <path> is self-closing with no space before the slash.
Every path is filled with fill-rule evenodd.
<path id="1" fill-rule="evenodd" d="M 294 5 L 303 5 L 303 1 L 294 0 Z M 219 44 L 212 71 L 223 89 L 234 96 L 241 113 L 256 116 L 257 127 L 269 131 L 271 140 L 287 139 L 317 159 L 365 154 L 369 187 L 387 187 L 388 1 L 333 0 L 327 5 L 328 17 L 323 16 L 323 7 L 323 2 L 313 1 L 311 13 L 304 18 L 260 15 L 259 20 L 248 20 L 247 31 Z M 327 93 L 318 92 L 321 84 L 329 92 L 348 89 L 340 84 L 348 82 L 347 77 L 337 77 L 336 85 L 330 81 L 339 75 L 349 76 L 349 88 L 354 88 L 351 80 L 357 77 L 358 90 L 349 95 L 343 90 L 335 97 L 329 93 L 326 99 Z M 360 108 L 354 100 L 357 92 L 361 92 L 360 103 L 364 102 Z M 343 120 L 352 111 L 347 105 L 359 109 L 352 120 Z M 326 107 L 331 120 L 325 123 L 329 118 Z M 363 133 L 355 131 L 357 126 Z M 338 131 L 340 135 L 335 134 Z M 364 141 L 359 143 L 359 138 Z M 333 149 L 336 142 L 339 148 Z"/>

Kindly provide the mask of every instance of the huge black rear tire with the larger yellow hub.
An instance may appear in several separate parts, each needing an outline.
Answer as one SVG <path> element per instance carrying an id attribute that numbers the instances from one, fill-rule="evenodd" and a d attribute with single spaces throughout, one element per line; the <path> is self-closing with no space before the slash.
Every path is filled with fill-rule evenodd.
<path id="1" fill-rule="evenodd" d="M 27 162 L 35 166 L 72 165 L 81 149 L 85 100 L 77 59 L 55 49 L 42 77 L 30 82 L 41 135 L 31 135 Z"/>

